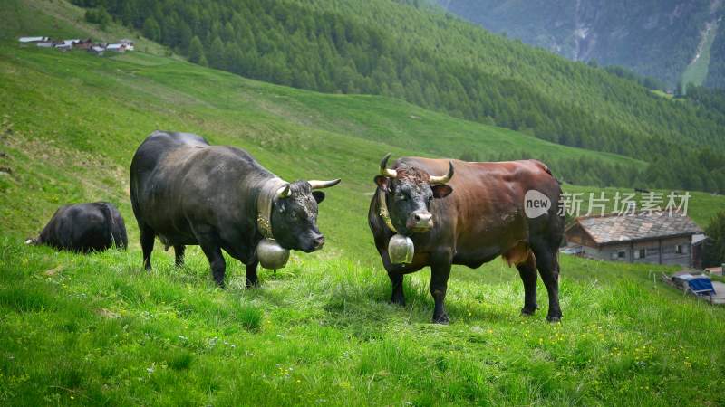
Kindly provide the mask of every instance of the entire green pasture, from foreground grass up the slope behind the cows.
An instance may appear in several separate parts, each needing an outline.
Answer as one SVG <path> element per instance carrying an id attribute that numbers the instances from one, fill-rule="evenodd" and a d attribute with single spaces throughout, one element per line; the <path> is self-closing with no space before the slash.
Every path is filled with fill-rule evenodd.
<path id="1" fill-rule="evenodd" d="M 198 248 L 175 269 L 157 247 L 141 270 L 128 166 L 156 128 L 247 148 L 286 179 L 343 177 L 321 205 L 324 251 L 263 270 L 259 289 L 243 288 L 235 260 L 217 289 Z M 1 44 L 0 404 L 725 403 L 723 310 L 653 282 L 672 268 L 563 257 L 556 325 L 543 287 L 536 317 L 518 315 L 522 285 L 498 260 L 453 271 L 449 326 L 429 323 L 428 271 L 406 278 L 407 307 L 388 305 L 365 219 L 376 164 L 388 151 L 457 155 L 457 136 L 485 152 L 595 154 L 149 53 Z M 704 226 L 723 200 L 702 196 L 691 212 Z M 24 246 L 57 205 L 100 199 L 125 216 L 128 252 Z"/>

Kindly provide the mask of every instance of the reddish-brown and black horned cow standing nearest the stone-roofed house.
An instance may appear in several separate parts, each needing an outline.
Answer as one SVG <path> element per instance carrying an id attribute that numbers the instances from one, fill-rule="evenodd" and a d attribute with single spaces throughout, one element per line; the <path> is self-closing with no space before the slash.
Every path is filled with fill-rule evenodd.
<path id="1" fill-rule="evenodd" d="M 392 282 L 392 303 L 405 304 L 404 274 L 430 266 L 433 322 L 448 323 L 443 301 L 451 265 L 475 269 L 502 256 L 509 266 L 517 267 L 524 281 L 521 312 L 530 315 L 537 309 L 538 268 L 548 291 L 546 319 L 561 319 L 557 259 L 564 233 L 564 218 L 558 215 L 561 188 L 543 163 L 403 157 L 390 169 L 389 157 L 382 159 L 380 175 L 375 177 L 377 193 L 368 221 Z M 409 264 L 391 263 L 388 242 L 396 232 L 414 243 Z"/>

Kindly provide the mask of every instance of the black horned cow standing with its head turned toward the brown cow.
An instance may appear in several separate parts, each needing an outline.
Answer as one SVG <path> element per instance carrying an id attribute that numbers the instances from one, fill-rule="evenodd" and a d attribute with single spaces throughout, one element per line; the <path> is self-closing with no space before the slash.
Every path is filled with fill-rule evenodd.
<path id="1" fill-rule="evenodd" d="M 186 245 L 198 244 L 212 275 L 224 286 L 222 249 L 247 266 L 247 287 L 256 286 L 256 246 L 274 237 L 285 249 L 323 247 L 317 229 L 317 189 L 333 181 L 287 183 L 260 166 L 246 151 L 209 146 L 189 133 L 155 131 L 131 162 L 131 204 L 139 222 L 143 265 L 151 268 L 154 238 L 174 247 L 182 265 Z"/>

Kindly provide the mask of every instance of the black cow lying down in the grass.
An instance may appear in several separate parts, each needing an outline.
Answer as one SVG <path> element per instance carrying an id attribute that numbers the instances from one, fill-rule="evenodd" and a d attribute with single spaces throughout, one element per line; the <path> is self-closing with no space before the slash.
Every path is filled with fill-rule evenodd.
<path id="1" fill-rule="evenodd" d="M 105 251 L 111 246 L 126 250 L 129 240 L 119 210 L 107 202 L 94 202 L 61 206 L 43 232 L 25 243 L 89 252 Z"/>

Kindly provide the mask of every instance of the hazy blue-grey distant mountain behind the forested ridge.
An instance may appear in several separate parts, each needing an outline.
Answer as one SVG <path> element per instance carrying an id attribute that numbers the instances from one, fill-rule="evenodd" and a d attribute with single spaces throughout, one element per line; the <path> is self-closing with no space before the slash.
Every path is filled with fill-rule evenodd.
<path id="1" fill-rule="evenodd" d="M 720 55 L 710 62 L 708 52 L 719 33 L 723 14 L 719 0 L 438 0 L 438 4 L 495 33 L 574 61 L 621 65 L 662 80 L 670 89 L 681 80 L 725 87 L 717 80 L 717 70 L 708 74 L 710 64 L 722 63 Z M 699 62 L 694 68 L 697 74 L 692 62 Z"/>

